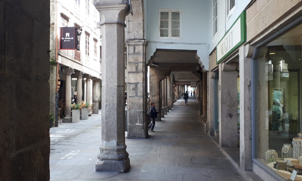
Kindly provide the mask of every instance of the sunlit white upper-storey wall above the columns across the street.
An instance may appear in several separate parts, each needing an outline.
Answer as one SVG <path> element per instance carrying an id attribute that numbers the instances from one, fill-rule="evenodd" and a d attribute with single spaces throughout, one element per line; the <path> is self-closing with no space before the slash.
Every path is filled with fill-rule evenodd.
<path id="1" fill-rule="evenodd" d="M 58 50 L 59 63 L 99 78 L 101 32 L 100 29 L 96 29 L 96 23 L 100 20 L 100 15 L 92 0 L 59 0 L 57 2 L 56 17 L 58 38 L 60 36 L 59 28 L 66 24 L 66 20 L 68 20 L 68 27 L 82 27 L 82 34 L 79 40 L 80 60 L 75 59 L 75 50 Z M 89 40 L 89 48 L 88 46 L 86 48 L 86 44 L 88 44 L 86 39 Z M 96 47 L 95 41 L 97 42 Z"/>

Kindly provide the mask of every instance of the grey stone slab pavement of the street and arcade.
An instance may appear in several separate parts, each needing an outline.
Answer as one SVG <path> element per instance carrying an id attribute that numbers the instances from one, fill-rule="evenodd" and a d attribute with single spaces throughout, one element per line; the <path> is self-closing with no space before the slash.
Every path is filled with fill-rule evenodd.
<path id="1" fill-rule="evenodd" d="M 50 180 L 244 180 L 204 132 L 198 102 L 178 100 L 148 139 L 126 139 L 131 168 L 126 173 L 96 172 L 101 114 L 50 129 Z M 101 113 L 101 112 L 100 112 Z"/>

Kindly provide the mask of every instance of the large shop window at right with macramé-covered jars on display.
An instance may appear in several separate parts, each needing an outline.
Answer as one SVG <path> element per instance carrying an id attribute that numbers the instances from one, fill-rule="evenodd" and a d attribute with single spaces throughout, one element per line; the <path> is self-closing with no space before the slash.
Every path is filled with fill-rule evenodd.
<path id="1" fill-rule="evenodd" d="M 256 62 L 256 157 L 288 180 L 292 165 L 299 165 L 302 156 L 297 151 L 302 144 L 297 138 L 301 132 L 301 29 L 299 25 L 262 47 L 264 56 Z M 294 161 L 286 163 L 284 158 Z"/>

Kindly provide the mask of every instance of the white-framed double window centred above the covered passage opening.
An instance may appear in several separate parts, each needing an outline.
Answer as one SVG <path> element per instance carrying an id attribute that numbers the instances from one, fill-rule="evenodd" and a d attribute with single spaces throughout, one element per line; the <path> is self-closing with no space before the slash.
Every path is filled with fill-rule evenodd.
<path id="1" fill-rule="evenodd" d="M 181 10 L 159 9 L 159 38 L 181 39 Z"/>

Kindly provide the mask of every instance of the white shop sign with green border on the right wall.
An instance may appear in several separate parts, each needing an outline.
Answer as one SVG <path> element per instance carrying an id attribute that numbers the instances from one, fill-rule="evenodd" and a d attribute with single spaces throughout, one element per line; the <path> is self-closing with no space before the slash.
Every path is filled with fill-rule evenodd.
<path id="1" fill-rule="evenodd" d="M 216 46 L 216 64 L 219 64 L 245 41 L 246 11 L 243 11 Z"/>

